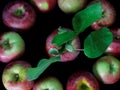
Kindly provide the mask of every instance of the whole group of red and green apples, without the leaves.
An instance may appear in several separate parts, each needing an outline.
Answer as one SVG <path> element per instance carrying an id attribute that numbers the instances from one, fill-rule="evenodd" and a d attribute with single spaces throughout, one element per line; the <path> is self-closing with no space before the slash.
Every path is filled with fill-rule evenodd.
<path id="1" fill-rule="evenodd" d="M 103 18 L 91 25 L 93 30 L 102 27 L 110 27 L 115 22 L 116 12 L 112 4 L 107 0 L 94 0 L 102 3 Z M 66 15 L 75 13 L 87 5 L 87 0 L 31 0 L 31 3 L 41 12 L 50 12 L 58 4 L 61 11 Z M 19 59 L 25 51 L 25 42 L 17 32 L 28 31 L 36 21 L 36 12 L 34 8 L 23 0 L 9 2 L 2 13 L 3 23 L 12 29 L 3 33 L 0 39 L 0 61 L 10 62 L 4 69 L 2 75 L 3 85 L 7 90 L 63 90 L 63 86 L 56 77 L 45 77 L 38 82 L 29 81 L 27 77 L 27 68 L 30 63 Z M 69 28 L 66 28 L 69 30 Z M 68 78 L 66 90 L 99 90 L 99 82 L 104 84 L 114 84 L 120 79 L 120 61 L 116 56 L 120 55 L 120 29 L 110 28 L 114 39 L 111 45 L 105 51 L 106 56 L 102 56 L 93 65 L 93 73 L 88 71 L 75 72 Z M 17 31 L 17 32 L 16 32 Z M 52 56 L 60 56 L 61 62 L 75 60 L 80 54 L 81 43 L 79 37 L 76 37 L 70 44 L 74 52 L 64 47 L 57 47 L 52 44 L 54 36 L 59 33 L 55 29 L 46 39 L 46 52 Z M 60 52 L 58 54 L 58 52 Z M 14 60 L 14 61 L 13 61 Z M 96 79 L 97 78 L 97 79 Z"/>

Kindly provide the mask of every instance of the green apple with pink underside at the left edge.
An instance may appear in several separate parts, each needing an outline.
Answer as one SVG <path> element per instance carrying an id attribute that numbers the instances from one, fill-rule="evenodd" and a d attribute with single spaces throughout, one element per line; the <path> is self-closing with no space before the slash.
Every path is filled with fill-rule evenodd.
<path id="1" fill-rule="evenodd" d="M 25 42 L 17 32 L 4 32 L 0 35 L 0 61 L 8 63 L 19 58 L 25 51 Z"/>

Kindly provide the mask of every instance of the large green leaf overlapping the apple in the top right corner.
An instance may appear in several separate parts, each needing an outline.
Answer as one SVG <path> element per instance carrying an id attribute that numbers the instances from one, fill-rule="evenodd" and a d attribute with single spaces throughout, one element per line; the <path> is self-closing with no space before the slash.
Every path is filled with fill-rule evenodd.
<path id="1" fill-rule="evenodd" d="M 97 2 L 76 13 L 72 19 L 72 25 L 77 34 L 83 32 L 93 22 L 102 17 L 101 3 Z"/>

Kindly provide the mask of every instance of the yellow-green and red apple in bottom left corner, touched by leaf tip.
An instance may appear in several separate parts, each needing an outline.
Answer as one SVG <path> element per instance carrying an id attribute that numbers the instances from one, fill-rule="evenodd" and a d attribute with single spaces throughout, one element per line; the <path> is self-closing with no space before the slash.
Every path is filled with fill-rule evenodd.
<path id="1" fill-rule="evenodd" d="M 34 81 L 29 81 L 27 68 L 30 63 L 16 60 L 7 64 L 2 73 L 2 83 L 7 90 L 31 90 Z"/>

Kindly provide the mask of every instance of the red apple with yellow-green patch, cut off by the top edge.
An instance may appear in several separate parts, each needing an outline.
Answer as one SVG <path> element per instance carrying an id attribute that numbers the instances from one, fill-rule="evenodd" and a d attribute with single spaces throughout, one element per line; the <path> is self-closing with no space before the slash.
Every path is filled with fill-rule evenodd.
<path id="1" fill-rule="evenodd" d="M 57 0 L 32 0 L 32 2 L 41 12 L 50 12 L 57 5 Z"/>

